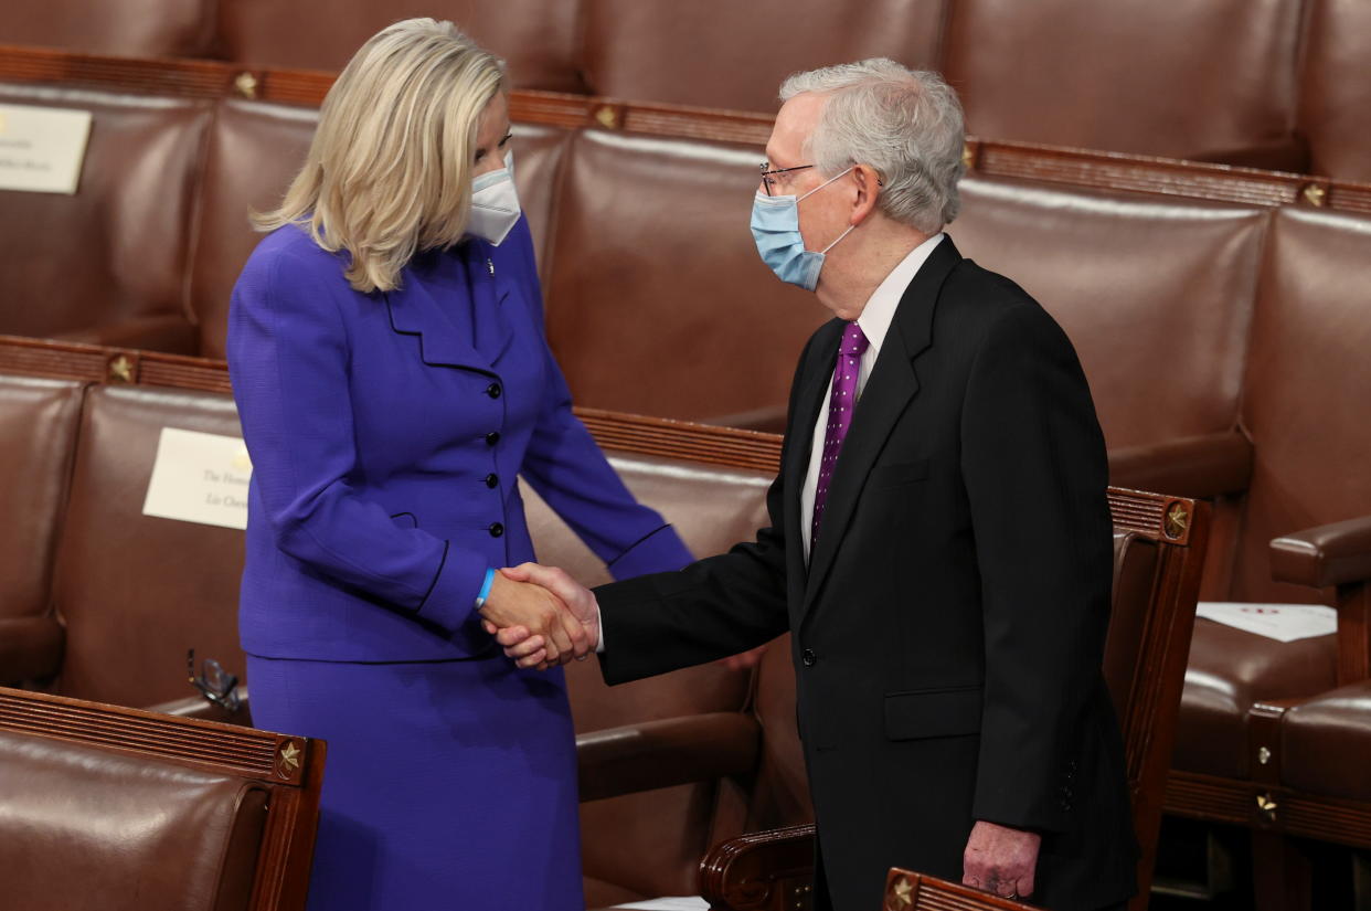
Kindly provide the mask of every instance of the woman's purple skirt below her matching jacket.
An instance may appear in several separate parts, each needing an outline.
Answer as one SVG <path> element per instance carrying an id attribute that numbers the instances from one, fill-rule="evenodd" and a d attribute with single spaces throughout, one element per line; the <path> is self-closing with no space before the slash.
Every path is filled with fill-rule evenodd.
<path id="1" fill-rule="evenodd" d="M 328 741 L 311 910 L 581 911 L 561 670 L 248 659 L 252 723 Z"/>

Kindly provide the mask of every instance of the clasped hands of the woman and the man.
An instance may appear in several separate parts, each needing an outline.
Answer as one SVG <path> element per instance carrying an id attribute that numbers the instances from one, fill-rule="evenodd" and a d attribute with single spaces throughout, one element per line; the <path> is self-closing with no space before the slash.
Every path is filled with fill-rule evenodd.
<path id="1" fill-rule="evenodd" d="M 525 563 L 499 569 L 480 609 L 485 631 L 521 668 L 584 661 L 599 646 L 595 595 L 561 569 Z"/>

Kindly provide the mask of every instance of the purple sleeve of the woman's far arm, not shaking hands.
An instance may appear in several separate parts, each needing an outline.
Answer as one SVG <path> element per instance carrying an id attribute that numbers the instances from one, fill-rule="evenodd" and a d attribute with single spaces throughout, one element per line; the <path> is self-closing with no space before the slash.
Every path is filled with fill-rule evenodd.
<path id="1" fill-rule="evenodd" d="M 526 221 L 520 221 L 510 240 L 526 247 L 524 274 L 547 376 L 542 413 L 524 454 L 524 479 L 605 561 L 616 579 L 684 567 L 694 557 L 680 535 L 661 514 L 633 498 L 590 431 L 572 413 L 572 392 L 543 333 L 542 291 L 532 266 Z"/>

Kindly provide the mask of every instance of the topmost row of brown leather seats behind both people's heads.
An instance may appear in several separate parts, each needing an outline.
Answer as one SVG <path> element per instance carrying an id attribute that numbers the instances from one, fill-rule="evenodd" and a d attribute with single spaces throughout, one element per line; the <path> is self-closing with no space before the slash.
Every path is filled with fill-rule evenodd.
<path id="1" fill-rule="evenodd" d="M 59 0 L 7 4 L 0 43 L 337 71 L 410 15 L 524 88 L 771 111 L 790 73 L 891 56 L 945 71 L 982 134 L 1371 180 L 1371 10 L 1348 0 Z"/>

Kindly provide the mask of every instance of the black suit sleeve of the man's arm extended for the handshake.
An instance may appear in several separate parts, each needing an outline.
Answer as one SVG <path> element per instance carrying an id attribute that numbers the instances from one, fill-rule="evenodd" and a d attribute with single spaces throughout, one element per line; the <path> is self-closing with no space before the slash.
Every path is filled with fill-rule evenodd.
<path id="1" fill-rule="evenodd" d="M 809 359 L 805 346 L 791 383 L 795 392 Z M 766 491 L 771 525 L 757 539 L 694 563 L 680 572 L 642 576 L 595 590 L 606 641 L 600 672 L 610 685 L 703 664 L 769 642 L 790 628 L 786 606 L 784 466 Z"/>

